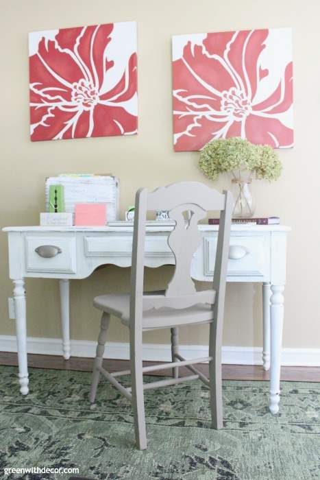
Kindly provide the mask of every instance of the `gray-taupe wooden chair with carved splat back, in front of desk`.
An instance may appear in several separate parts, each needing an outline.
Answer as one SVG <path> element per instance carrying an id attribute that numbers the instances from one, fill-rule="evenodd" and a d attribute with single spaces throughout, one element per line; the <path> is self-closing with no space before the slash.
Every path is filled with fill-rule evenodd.
<path id="1" fill-rule="evenodd" d="M 168 237 L 169 247 L 175 256 L 175 272 L 166 291 L 144 293 L 145 221 L 147 211 L 156 210 L 168 210 L 171 219 L 176 222 Z M 208 211 L 221 212 L 213 285 L 211 289 L 196 291 L 190 278 L 190 265 L 193 253 L 201 242 L 197 224 L 206 217 Z M 143 399 L 145 389 L 201 379 L 210 387 L 212 427 L 223 427 L 221 341 L 231 215 L 231 193 L 224 191 L 221 194 L 198 182 L 176 183 L 153 192 L 147 189 L 138 190 L 134 217 L 131 293 L 103 295 L 94 300 L 95 307 L 102 310 L 103 314 L 90 401 L 95 401 L 100 373 L 119 389 L 121 394 L 132 400 L 136 442 L 140 450 L 147 448 Z M 119 317 L 130 329 L 131 370 L 110 373 L 102 367 L 110 315 Z M 186 361 L 178 352 L 177 328 L 192 324 L 210 324 L 209 357 Z M 172 363 L 143 368 L 143 332 L 157 328 L 171 328 Z M 209 362 L 209 379 L 193 366 L 204 361 Z M 179 367 L 182 365 L 193 374 L 179 377 Z M 160 368 L 173 368 L 174 378 L 143 384 L 143 373 Z M 129 373 L 132 374 L 132 387 L 126 388 L 116 378 Z"/>

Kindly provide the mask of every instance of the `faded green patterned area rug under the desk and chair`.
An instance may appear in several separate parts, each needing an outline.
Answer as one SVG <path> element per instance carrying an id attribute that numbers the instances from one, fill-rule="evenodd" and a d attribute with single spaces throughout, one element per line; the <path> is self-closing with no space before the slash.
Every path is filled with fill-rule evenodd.
<path id="1" fill-rule="evenodd" d="M 209 428 L 200 381 L 147 390 L 149 446 L 138 451 L 131 405 L 106 381 L 93 408 L 90 373 L 30 369 L 23 397 L 16 372 L 0 367 L 1 479 L 72 476 L 3 475 L 32 466 L 73 466 L 101 480 L 320 479 L 320 383 L 283 382 L 280 413 L 271 416 L 268 382 L 225 381 L 221 431 Z"/>

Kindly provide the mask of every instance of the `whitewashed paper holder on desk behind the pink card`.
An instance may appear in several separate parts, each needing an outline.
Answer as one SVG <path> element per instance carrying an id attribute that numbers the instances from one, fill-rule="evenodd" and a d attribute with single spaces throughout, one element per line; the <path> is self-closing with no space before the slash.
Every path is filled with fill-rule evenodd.
<path id="1" fill-rule="evenodd" d="M 64 209 L 74 214 L 75 204 L 106 204 L 106 222 L 119 219 L 119 180 L 111 175 L 59 175 L 45 182 L 46 211 L 50 185 L 63 185 Z"/>

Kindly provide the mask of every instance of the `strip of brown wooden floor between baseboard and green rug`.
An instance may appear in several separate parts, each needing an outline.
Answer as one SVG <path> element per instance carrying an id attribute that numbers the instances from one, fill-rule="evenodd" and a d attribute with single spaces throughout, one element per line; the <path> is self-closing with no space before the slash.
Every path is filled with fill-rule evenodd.
<path id="1" fill-rule="evenodd" d="M 144 362 L 144 365 L 156 365 L 157 362 Z M 18 365 L 16 353 L 0 352 L 0 365 Z M 90 372 L 93 369 L 93 359 L 72 357 L 64 360 L 57 355 L 28 355 L 28 365 L 34 368 L 53 368 L 56 370 L 79 370 Z M 105 360 L 103 366 L 110 372 L 127 370 L 130 368 L 126 360 Z M 208 375 L 208 365 L 197 365 L 198 370 Z M 153 375 L 168 375 L 170 370 L 150 372 Z M 180 368 L 180 375 L 189 375 L 185 367 Z M 225 380 L 269 380 L 269 372 L 264 372 L 261 366 L 256 365 L 223 365 L 222 376 Z M 282 367 L 281 380 L 320 382 L 320 367 Z"/>

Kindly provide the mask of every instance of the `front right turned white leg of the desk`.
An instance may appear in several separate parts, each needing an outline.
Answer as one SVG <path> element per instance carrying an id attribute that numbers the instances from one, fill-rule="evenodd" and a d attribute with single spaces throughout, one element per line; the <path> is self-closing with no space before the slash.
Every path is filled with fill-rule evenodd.
<path id="1" fill-rule="evenodd" d="M 269 410 L 278 413 L 280 402 L 280 370 L 282 325 L 284 317 L 283 285 L 271 285 L 271 365 L 270 365 L 270 400 Z"/>

